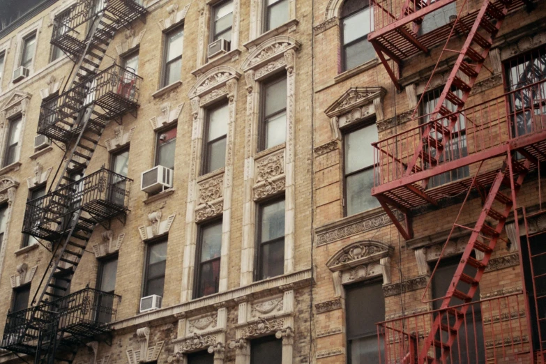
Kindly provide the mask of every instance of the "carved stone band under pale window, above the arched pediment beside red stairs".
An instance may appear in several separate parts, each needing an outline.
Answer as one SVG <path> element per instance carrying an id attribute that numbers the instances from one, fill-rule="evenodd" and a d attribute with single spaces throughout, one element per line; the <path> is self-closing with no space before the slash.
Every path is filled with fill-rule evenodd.
<path id="1" fill-rule="evenodd" d="M 402 220 L 402 213 L 397 210 L 393 211 L 398 220 Z M 386 213 L 379 213 L 377 215 L 370 216 L 368 218 L 362 218 L 361 220 L 352 221 L 347 225 L 335 226 L 330 229 L 324 228 L 317 232 L 317 246 L 332 243 L 347 236 L 352 236 L 367 232 L 371 229 L 377 229 L 390 225 L 392 222 Z"/>

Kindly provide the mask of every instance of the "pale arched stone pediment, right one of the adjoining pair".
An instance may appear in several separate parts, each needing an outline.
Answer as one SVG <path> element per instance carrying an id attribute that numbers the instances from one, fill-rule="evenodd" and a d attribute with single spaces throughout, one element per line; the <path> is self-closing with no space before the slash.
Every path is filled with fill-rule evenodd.
<path id="1" fill-rule="evenodd" d="M 246 73 L 248 70 L 257 70 L 268 63 L 285 56 L 289 50 L 298 50 L 300 43 L 289 36 L 276 36 L 265 40 L 248 54 L 241 69 Z"/>

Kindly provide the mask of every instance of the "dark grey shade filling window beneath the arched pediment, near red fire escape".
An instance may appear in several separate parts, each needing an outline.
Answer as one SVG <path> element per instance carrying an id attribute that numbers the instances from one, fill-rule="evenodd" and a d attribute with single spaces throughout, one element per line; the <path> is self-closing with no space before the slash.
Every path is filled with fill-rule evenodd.
<path id="1" fill-rule="evenodd" d="M 370 299 L 373 297 L 373 299 Z M 377 322 L 385 321 L 383 285 L 376 281 L 345 289 L 347 340 L 377 333 Z"/>

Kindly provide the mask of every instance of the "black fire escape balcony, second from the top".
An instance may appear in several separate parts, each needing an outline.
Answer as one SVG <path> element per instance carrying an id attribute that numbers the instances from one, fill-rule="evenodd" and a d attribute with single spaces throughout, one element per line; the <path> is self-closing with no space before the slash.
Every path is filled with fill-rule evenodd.
<path id="1" fill-rule="evenodd" d="M 78 114 L 91 104 L 103 108 L 96 119 L 107 121 L 132 112 L 138 106 L 142 77 L 116 64 L 92 75 L 40 108 L 38 134 L 59 142 L 68 142 L 79 132 Z"/>

